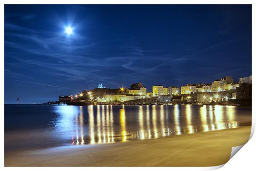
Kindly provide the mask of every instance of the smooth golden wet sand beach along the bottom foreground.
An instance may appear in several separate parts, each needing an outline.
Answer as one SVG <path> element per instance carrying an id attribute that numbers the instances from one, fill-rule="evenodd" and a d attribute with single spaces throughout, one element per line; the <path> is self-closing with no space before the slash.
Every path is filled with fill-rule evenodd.
<path id="1" fill-rule="evenodd" d="M 5 166 L 218 166 L 251 126 L 159 139 L 5 152 Z"/>

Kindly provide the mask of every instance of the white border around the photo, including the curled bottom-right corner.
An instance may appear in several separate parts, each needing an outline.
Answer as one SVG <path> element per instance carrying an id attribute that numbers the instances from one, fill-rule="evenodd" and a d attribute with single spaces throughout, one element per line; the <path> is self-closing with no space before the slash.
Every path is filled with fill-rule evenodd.
<path id="1" fill-rule="evenodd" d="M 252 4 L 252 30 L 255 30 L 255 0 L 1 0 L 0 1 L 0 37 L 1 37 L 1 42 L 0 42 L 0 53 L 1 53 L 1 63 L 0 63 L 0 77 L 1 80 L 4 80 L 4 4 Z M 252 33 L 252 47 L 255 47 L 255 34 L 254 32 Z M 252 56 L 255 57 L 255 51 L 254 48 L 252 48 Z M 255 74 L 255 59 L 252 57 L 252 75 Z M 1 82 L 1 95 L 2 98 L 0 98 L 0 109 L 1 109 L 1 135 L 2 135 L 2 141 L 1 141 L 1 166 L 4 166 L 4 82 Z M 255 93 L 255 86 L 253 85 L 253 90 L 252 90 L 252 104 L 255 103 L 254 97 L 256 96 Z M 251 136 L 253 135 L 254 129 L 255 129 L 255 109 L 252 108 L 252 132 Z M 251 140 L 244 145 L 242 150 L 238 152 L 237 155 L 232 157 L 230 161 L 225 164 L 224 167 L 222 166 L 215 166 L 215 167 L 147 167 L 144 169 L 161 169 L 161 170 L 176 170 L 176 171 L 184 171 L 184 170 L 194 170 L 194 171 L 201 171 L 201 170 L 212 170 L 212 169 L 218 169 L 222 167 L 220 170 L 251 170 L 251 168 L 254 168 L 255 166 L 255 144 L 256 144 L 256 138 L 250 137 Z M 19 169 L 19 170 L 26 170 L 26 171 L 32 171 L 35 168 L 32 167 L 23 167 L 23 168 L 12 168 L 12 167 L 5 167 L 3 168 L 5 170 L 13 170 L 13 169 Z M 37 170 L 45 170 L 46 168 L 40 167 L 36 168 Z M 50 169 L 50 168 L 49 168 Z M 76 168 L 65 168 L 65 167 L 54 167 L 51 169 L 55 170 L 70 170 L 70 169 L 76 169 L 76 170 L 84 170 L 84 169 L 104 169 L 104 170 L 130 170 L 130 169 L 135 169 L 135 170 L 141 170 L 143 168 L 140 167 L 100 167 L 100 168 L 83 168 L 83 167 L 76 167 Z"/>

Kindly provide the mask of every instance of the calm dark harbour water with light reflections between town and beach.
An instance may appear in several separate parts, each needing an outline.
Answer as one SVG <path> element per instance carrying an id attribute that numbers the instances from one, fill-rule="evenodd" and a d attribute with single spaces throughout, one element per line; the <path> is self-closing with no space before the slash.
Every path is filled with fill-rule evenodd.
<path id="1" fill-rule="evenodd" d="M 5 105 L 5 150 L 85 145 L 251 125 L 251 108 L 197 105 Z"/>

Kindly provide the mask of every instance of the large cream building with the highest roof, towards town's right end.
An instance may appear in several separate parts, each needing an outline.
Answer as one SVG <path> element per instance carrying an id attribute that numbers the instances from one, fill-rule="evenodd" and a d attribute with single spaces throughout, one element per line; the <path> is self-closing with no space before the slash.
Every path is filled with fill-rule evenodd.
<path id="1" fill-rule="evenodd" d="M 229 89 L 230 84 L 234 82 L 231 76 L 226 76 L 220 80 L 215 80 L 211 83 L 211 91 L 225 91 Z"/>

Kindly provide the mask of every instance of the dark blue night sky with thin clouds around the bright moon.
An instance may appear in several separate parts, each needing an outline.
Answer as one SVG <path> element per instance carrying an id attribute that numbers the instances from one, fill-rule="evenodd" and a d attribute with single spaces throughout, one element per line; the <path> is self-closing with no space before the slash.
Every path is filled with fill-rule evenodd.
<path id="1" fill-rule="evenodd" d="M 5 103 L 226 75 L 251 75 L 251 5 L 5 5 Z"/>

